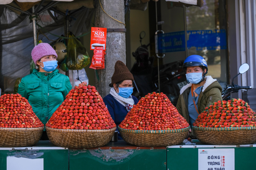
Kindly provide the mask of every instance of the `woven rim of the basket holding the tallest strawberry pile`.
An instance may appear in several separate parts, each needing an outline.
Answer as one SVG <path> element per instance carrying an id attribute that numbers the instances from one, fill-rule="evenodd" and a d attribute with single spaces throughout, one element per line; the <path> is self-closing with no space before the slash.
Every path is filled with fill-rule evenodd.
<path id="1" fill-rule="evenodd" d="M 96 130 L 90 130 L 90 129 L 55 129 L 46 126 L 46 130 L 53 131 L 53 132 L 62 132 L 62 133 L 81 133 L 81 132 L 86 132 L 86 133 L 95 133 L 95 132 L 102 132 L 102 133 L 107 133 L 107 132 L 112 132 L 115 131 L 117 127 L 111 128 L 111 129 L 96 129 Z"/>

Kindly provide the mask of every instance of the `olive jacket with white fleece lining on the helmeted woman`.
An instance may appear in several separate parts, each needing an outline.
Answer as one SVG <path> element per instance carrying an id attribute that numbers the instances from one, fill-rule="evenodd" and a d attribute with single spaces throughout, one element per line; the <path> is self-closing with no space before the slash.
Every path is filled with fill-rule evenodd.
<path id="1" fill-rule="evenodd" d="M 212 76 L 205 76 L 205 83 L 203 85 L 202 91 L 199 94 L 197 110 L 199 113 L 204 111 L 206 106 L 210 106 L 212 103 L 222 100 L 221 92 L 222 87 L 220 86 L 217 79 L 213 79 Z M 188 112 L 188 95 L 191 93 L 192 84 L 189 83 L 183 88 L 181 88 L 180 96 L 177 103 L 178 112 L 189 122 L 189 112 Z"/>

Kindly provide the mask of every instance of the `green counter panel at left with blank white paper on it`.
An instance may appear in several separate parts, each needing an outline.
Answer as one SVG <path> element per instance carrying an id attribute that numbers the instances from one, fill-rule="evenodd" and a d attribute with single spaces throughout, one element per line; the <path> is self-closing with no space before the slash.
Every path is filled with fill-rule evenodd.
<path id="1" fill-rule="evenodd" d="M 7 157 L 9 160 L 22 159 L 34 164 L 20 165 L 20 169 L 26 167 L 27 170 L 38 170 L 42 166 L 34 162 L 37 162 L 36 159 L 41 159 L 44 170 L 68 170 L 68 148 L 56 147 L 49 143 L 49 141 L 39 141 L 31 147 L 18 147 L 14 149 L 0 148 L 0 170 L 14 170 L 12 166 L 15 163 L 17 164 L 17 162 L 8 161 L 7 163 Z"/>

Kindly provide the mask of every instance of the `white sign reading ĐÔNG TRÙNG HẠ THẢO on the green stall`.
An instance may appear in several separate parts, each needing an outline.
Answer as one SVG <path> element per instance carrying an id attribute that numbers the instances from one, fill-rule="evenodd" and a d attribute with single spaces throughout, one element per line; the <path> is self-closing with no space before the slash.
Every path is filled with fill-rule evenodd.
<path id="1" fill-rule="evenodd" d="M 198 170 L 234 170 L 235 149 L 198 149 Z"/>

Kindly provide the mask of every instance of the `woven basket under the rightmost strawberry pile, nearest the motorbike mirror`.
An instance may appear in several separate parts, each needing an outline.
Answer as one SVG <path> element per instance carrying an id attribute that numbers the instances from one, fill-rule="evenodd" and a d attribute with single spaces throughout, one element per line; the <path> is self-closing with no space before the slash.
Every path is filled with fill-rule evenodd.
<path id="1" fill-rule="evenodd" d="M 256 142 L 256 127 L 195 127 L 197 139 L 211 145 L 246 145 Z"/>

